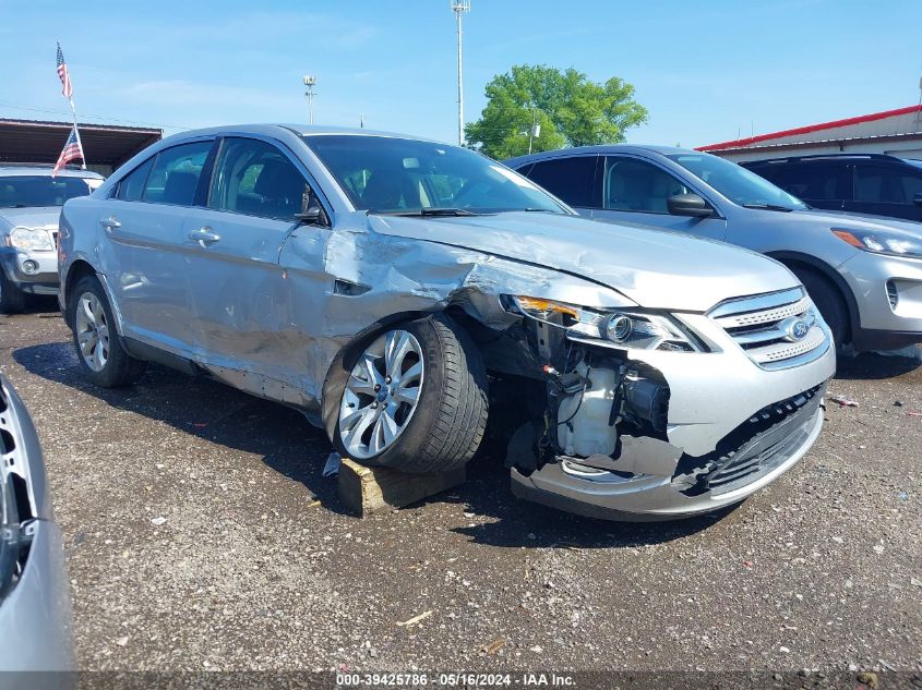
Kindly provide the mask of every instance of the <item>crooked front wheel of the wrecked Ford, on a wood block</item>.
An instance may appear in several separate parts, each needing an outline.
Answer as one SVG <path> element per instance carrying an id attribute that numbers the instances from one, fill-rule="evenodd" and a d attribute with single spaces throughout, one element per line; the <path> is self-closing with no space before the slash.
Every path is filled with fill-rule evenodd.
<path id="1" fill-rule="evenodd" d="M 369 465 L 429 474 L 464 467 L 487 426 L 487 372 L 445 315 L 400 324 L 344 360 L 333 445 Z"/>

